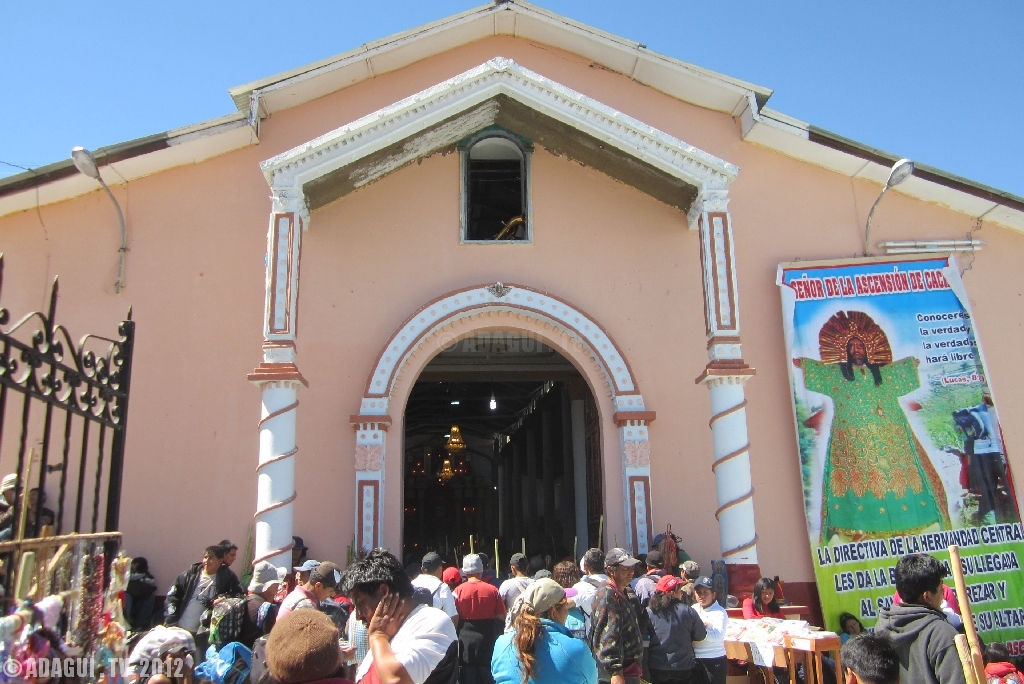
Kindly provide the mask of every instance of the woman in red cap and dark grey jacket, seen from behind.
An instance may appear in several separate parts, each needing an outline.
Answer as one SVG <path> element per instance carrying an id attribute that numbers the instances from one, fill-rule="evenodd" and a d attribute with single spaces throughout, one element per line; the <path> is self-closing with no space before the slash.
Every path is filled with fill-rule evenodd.
<path id="1" fill-rule="evenodd" d="M 708 636 L 696 611 L 683 602 L 684 583 L 667 574 L 657 581 L 647 604 L 650 649 L 647 653 L 653 684 L 689 684 L 696 665 L 693 642 Z"/>

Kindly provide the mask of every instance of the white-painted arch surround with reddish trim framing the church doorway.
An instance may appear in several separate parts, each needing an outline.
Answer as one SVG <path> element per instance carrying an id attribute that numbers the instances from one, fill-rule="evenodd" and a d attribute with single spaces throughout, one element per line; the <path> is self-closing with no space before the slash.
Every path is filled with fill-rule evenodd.
<path id="1" fill-rule="evenodd" d="M 402 523 L 400 435 L 406 402 L 420 373 L 452 344 L 498 330 L 535 336 L 587 380 L 601 418 L 604 501 L 624 498 L 621 509 L 605 506 L 607 538 L 617 537 L 621 546 L 645 553 L 652 530 L 648 424 L 654 414 L 646 409 L 629 364 L 608 333 L 579 307 L 549 293 L 500 283 L 428 302 L 390 337 L 374 364 L 359 414 L 350 418 L 355 427 L 357 546 L 397 550 Z"/>

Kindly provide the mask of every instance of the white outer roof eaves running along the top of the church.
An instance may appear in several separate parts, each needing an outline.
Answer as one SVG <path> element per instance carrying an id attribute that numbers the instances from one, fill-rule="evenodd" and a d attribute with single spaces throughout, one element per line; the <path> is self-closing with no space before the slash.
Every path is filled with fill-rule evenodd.
<path id="1" fill-rule="evenodd" d="M 259 118 L 488 36 L 508 35 L 579 54 L 609 71 L 693 104 L 725 112 L 742 137 L 851 177 L 884 183 L 898 156 L 863 145 L 765 108 L 772 91 L 646 49 L 521 0 L 499 0 L 384 38 L 304 68 L 230 89 L 240 112 L 97 149 L 101 166 L 125 180 L 258 142 Z M 257 114 L 258 113 L 258 114 Z M 117 161 L 108 162 L 105 159 Z M 119 179 L 111 179 L 119 180 Z M 95 189 L 70 160 L 0 179 L 0 216 Z M 1024 231 L 1024 198 L 918 165 L 896 191 Z"/>

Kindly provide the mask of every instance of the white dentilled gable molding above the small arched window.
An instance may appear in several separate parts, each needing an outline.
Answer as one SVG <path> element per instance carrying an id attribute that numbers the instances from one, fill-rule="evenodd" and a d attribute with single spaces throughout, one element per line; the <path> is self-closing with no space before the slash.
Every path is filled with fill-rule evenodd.
<path id="1" fill-rule="evenodd" d="M 274 193 L 290 193 L 419 131 L 506 95 L 695 185 L 724 190 L 739 169 L 702 149 L 566 88 L 511 59 L 495 57 L 261 164 Z M 481 110 L 485 123 L 485 112 Z M 463 135 L 460 130 L 450 135 Z M 456 139 L 453 138 L 451 142 Z M 435 140 L 435 144 L 438 142 Z M 410 154 L 415 154 L 411 151 Z"/>

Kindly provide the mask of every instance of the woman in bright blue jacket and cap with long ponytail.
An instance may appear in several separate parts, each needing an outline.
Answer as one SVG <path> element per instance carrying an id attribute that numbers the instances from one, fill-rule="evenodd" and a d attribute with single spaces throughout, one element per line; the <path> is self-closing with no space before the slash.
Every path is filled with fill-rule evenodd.
<path id="1" fill-rule="evenodd" d="M 573 596 L 574 590 L 547 578 L 526 588 L 513 631 L 495 644 L 495 684 L 597 684 L 590 647 L 565 628 L 567 599 Z"/>

